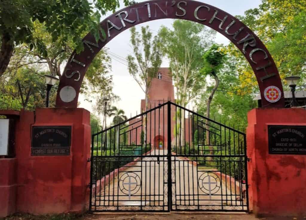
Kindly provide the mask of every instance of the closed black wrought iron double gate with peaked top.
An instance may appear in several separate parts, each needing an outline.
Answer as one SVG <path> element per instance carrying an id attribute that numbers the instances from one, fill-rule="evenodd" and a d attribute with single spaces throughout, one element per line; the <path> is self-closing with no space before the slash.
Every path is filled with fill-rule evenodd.
<path id="1" fill-rule="evenodd" d="M 245 134 L 170 101 L 92 135 L 90 207 L 248 212 Z"/>

